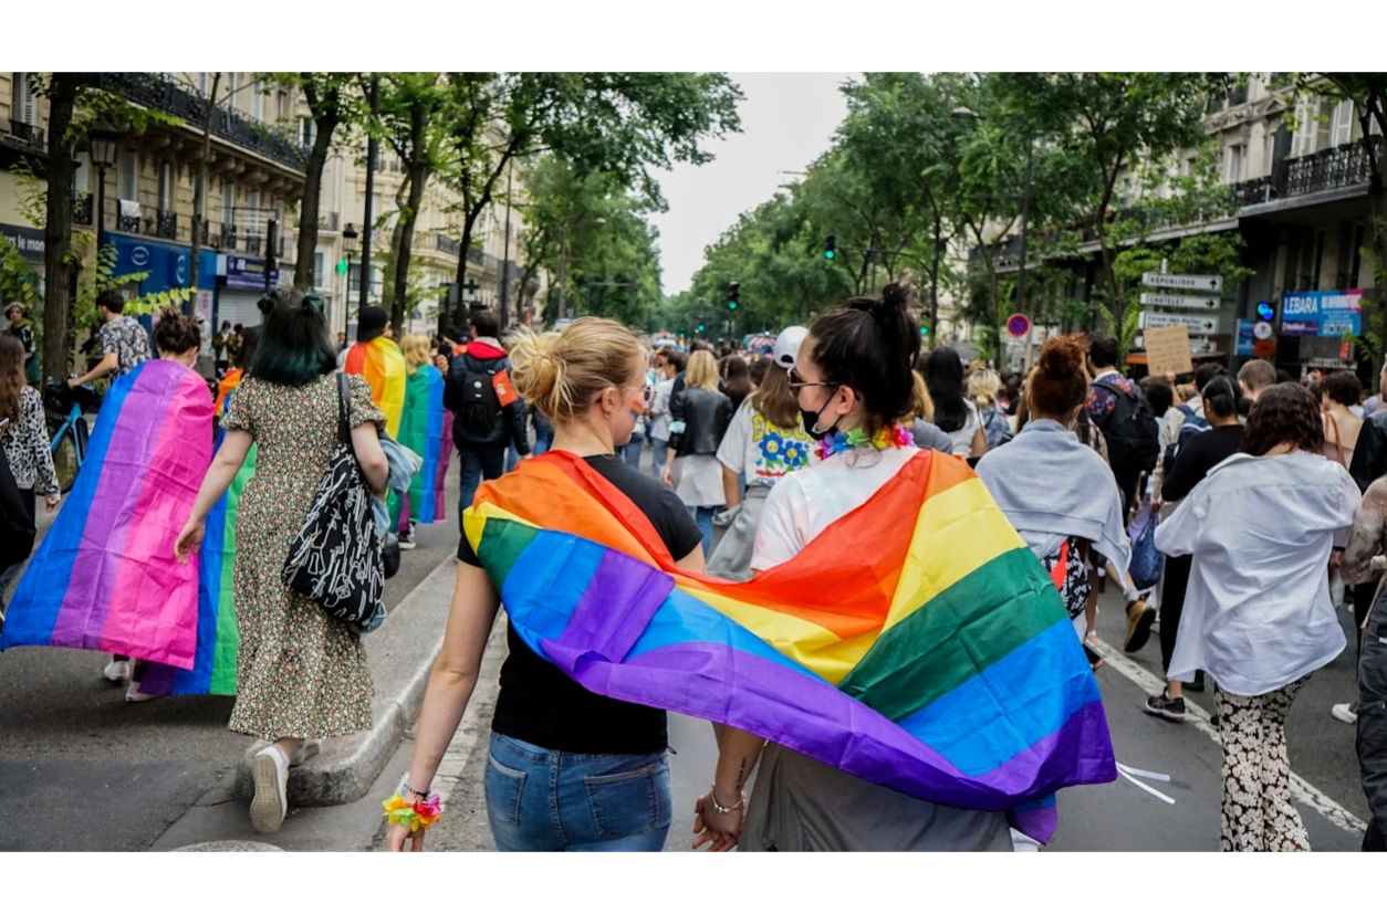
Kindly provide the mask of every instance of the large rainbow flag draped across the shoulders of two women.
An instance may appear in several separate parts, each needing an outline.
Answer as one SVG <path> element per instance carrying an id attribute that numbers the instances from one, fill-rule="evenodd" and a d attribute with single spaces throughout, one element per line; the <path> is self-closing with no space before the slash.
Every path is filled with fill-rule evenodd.
<path id="1" fill-rule="evenodd" d="M 1007 810 L 1040 841 L 1056 791 L 1117 779 L 1064 603 L 958 460 L 920 453 L 746 583 L 675 568 L 649 519 L 569 453 L 483 482 L 465 529 L 520 637 L 594 693 Z"/>

